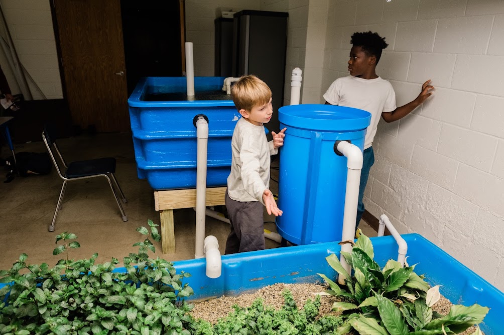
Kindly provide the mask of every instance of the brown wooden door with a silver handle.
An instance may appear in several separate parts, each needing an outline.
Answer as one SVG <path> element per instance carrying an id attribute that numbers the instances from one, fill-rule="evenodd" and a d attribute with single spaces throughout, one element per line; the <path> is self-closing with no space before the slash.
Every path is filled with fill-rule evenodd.
<path id="1" fill-rule="evenodd" d="M 54 0 L 64 90 L 74 125 L 130 128 L 120 0 Z"/>

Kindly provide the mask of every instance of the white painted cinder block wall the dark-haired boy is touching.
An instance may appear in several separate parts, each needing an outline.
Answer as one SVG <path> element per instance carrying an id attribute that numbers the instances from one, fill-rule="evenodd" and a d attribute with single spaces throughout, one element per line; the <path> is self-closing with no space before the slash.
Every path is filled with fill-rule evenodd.
<path id="1" fill-rule="evenodd" d="M 348 75 L 350 37 L 367 30 L 389 43 L 377 72 L 398 106 L 426 79 L 436 88 L 411 115 L 380 123 L 366 209 L 504 291 L 504 2 L 331 1 L 328 12 L 322 93 Z"/>

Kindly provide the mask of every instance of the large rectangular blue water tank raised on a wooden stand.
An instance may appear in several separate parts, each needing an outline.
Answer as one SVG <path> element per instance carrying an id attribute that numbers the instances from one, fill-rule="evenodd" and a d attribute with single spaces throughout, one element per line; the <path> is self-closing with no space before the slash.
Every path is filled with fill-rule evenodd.
<path id="1" fill-rule="evenodd" d="M 223 82 L 195 77 L 195 92 L 222 93 Z M 198 114 L 209 121 L 207 186 L 225 186 L 231 170 L 231 138 L 241 117 L 232 100 L 146 101 L 149 95 L 185 92 L 185 77 L 145 77 L 128 99 L 138 178 L 155 190 L 196 187 Z"/>

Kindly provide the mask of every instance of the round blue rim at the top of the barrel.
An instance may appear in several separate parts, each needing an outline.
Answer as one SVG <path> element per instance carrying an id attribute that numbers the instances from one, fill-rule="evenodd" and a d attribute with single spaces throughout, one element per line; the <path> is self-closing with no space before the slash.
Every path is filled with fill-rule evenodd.
<path id="1" fill-rule="evenodd" d="M 278 119 L 288 127 L 313 131 L 355 131 L 365 129 L 371 122 L 371 114 L 361 109 L 302 104 L 278 109 Z"/>

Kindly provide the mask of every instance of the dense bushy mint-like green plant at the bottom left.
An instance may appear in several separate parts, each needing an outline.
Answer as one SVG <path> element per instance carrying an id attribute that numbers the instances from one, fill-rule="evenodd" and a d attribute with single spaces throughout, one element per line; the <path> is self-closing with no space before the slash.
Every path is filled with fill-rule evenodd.
<path id="1" fill-rule="evenodd" d="M 138 253 L 124 258 L 126 273 L 114 272 L 119 262 L 95 264 L 72 260 L 69 252 L 80 247 L 77 236 L 62 233 L 53 255 L 66 258 L 49 268 L 47 264 L 28 265 L 22 254 L 10 270 L 0 271 L 0 334 L 189 334 L 194 319 L 187 314 L 192 305 L 185 297 L 193 294 L 173 264 L 159 257 L 150 240 L 159 240 L 157 226 L 148 221 L 137 228 L 145 239 L 135 243 Z M 62 242 L 62 243 L 61 243 Z M 64 275 L 64 276 L 62 276 Z"/>

